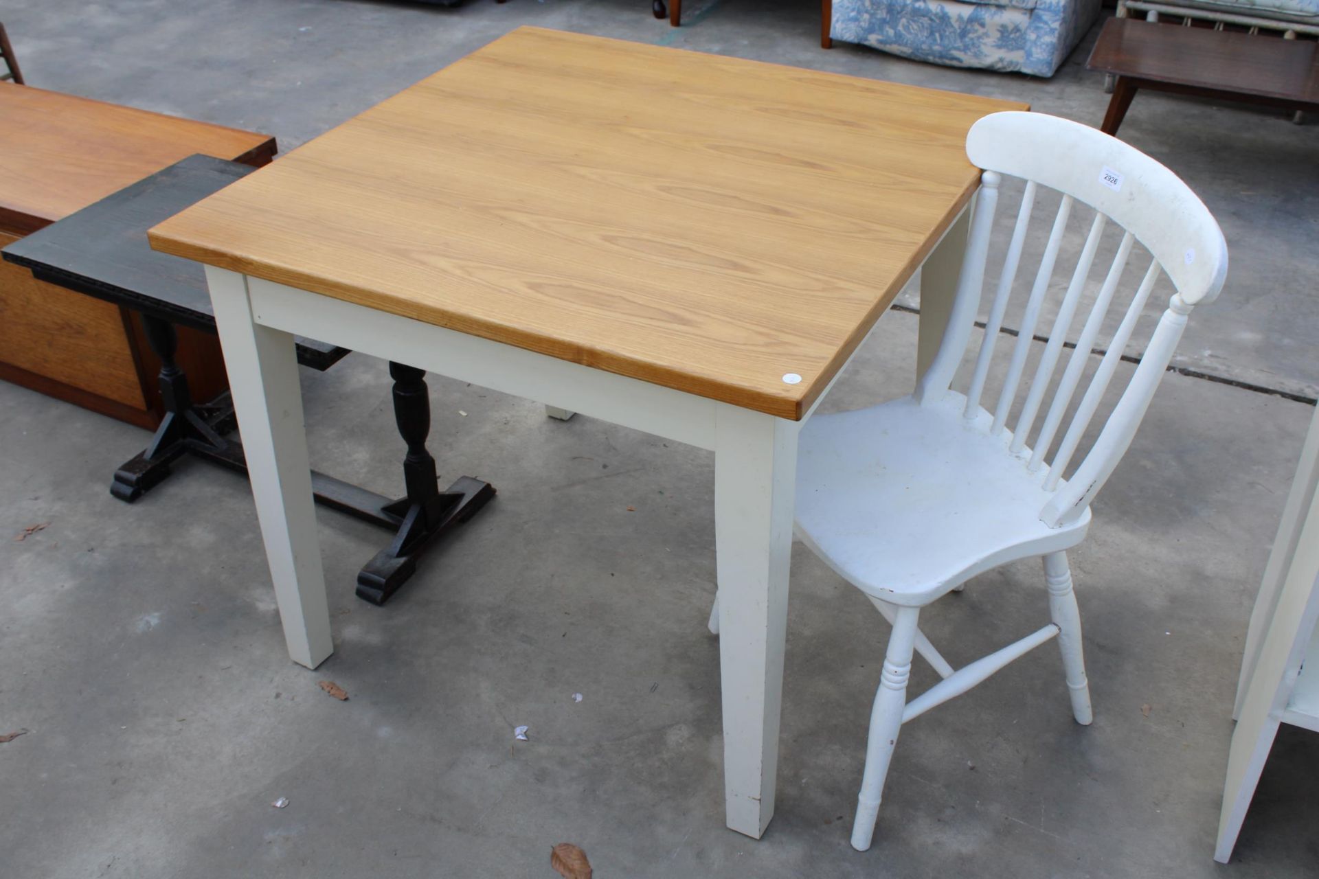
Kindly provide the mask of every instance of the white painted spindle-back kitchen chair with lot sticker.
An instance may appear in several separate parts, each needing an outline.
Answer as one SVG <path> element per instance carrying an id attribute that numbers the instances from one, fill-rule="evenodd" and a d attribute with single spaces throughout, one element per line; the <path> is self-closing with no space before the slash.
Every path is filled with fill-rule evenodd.
<path id="1" fill-rule="evenodd" d="M 1227 274 L 1223 233 L 1195 194 L 1154 159 L 1096 129 L 1041 113 L 995 113 L 971 128 L 967 156 L 984 174 L 952 314 L 930 369 L 911 397 L 859 411 L 816 415 L 798 440 L 798 536 L 893 623 L 871 714 L 865 775 L 852 828 L 852 845 L 863 851 L 871 846 L 884 779 L 902 723 L 964 693 L 1050 638 L 1058 637 L 1062 648 L 1072 713 L 1079 723 L 1091 722 L 1080 617 L 1066 551 L 1086 536 L 1089 503 L 1130 444 L 1187 315 L 1194 306 L 1217 295 Z M 1024 178 L 1026 186 L 969 386 L 958 393 L 951 383 L 981 302 L 989 232 L 1004 174 Z M 1012 345 L 1006 378 L 989 410 L 981 401 L 995 344 L 1000 340 L 1031 208 L 1046 187 L 1062 194 L 1058 213 Z M 1022 381 L 1041 306 L 1076 203 L 1088 204 L 1096 215 L 1034 374 Z M 1125 235 L 1062 378 L 1046 401 L 1109 221 Z M 1100 324 L 1115 302 L 1136 242 L 1153 260 L 1068 419 L 1087 362 L 1092 362 Z M 1177 294 L 1099 438 L 1071 477 L 1063 478 L 1161 271 Z M 1018 391 L 1025 399 L 1009 430 Z M 1034 434 L 1034 443 L 1028 444 L 1041 414 L 1043 423 Z M 1062 440 L 1051 460 L 1046 460 L 1059 435 Z M 917 629 L 921 608 L 977 573 L 1031 556 L 1043 556 L 1051 622 L 954 671 Z M 943 680 L 907 701 L 913 648 L 931 662 Z"/>

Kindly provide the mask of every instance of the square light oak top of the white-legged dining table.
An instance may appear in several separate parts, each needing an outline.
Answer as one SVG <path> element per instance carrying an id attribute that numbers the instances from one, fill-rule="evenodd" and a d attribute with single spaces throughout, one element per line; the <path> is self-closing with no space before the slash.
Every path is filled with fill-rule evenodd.
<path id="1" fill-rule="evenodd" d="M 975 191 L 969 127 L 1024 108 L 521 28 L 150 237 L 799 419 Z"/>

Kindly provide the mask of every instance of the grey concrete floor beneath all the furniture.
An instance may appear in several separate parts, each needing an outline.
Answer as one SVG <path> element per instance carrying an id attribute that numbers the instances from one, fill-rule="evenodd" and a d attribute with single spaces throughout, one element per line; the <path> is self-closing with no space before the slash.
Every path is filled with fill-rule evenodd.
<path id="1" fill-rule="evenodd" d="M 4 22 L 32 84 L 284 150 L 524 22 L 1088 123 L 1107 100 L 1088 42 L 1035 80 L 822 51 L 813 0 L 687 7 L 681 30 L 640 0 L 11 0 Z M 1137 98 L 1124 138 L 1200 192 L 1232 249 L 1182 365 L 1314 395 L 1316 132 Z M 913 315 L 885 316 L 826 406 L 906 393 L 914 337 Z M 303 380 L 313 463 L 397 490 L 383 365 Z M 381 534 L 322 513 L 336 652 L 310 672 L 288 662 L 241 477 L 185 464 L 125 507 L 106 488 L 141 431 L 0 383 L 0 530 L 49 522 L 0 540 L 0 733 L 30 730 L 0 745 L 0 876 L 553 876 L 562 841 L 601 878 L 1319 875 L 1319 737 L 1287 727 L 1233 863 L 1211 861 L 1242 637 L 1310 406 L 1169 376 L 1074 553 L 1095 725 L 1071 721 L 1057 652 L 1037 651 L 904 731 L 859 854 L 886 637 L 861 596 L 798 547 L 777 816 L 760 842 L 727 832 L 711 457 L 446 380 L 431 398 L 439 469 L 500 497 L 384 609 L 352 594 Z M 1009 565 L 922 625 L 966 662 L 1038 625 L 1041 586 L 1035 564 Z M 915 687 L 933 677 L 917 664 Z"/>

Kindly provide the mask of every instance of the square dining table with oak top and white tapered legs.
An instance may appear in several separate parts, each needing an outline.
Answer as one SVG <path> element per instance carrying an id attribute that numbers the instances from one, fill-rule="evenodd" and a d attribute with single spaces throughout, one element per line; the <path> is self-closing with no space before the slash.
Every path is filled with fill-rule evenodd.
<path id="1" fill-rule="evenodd" d="M 293 659 L 331 652 L 294 335 L 711 449 L 725 818 L 758 838 L 798 430 L 922 265 L 929 361 L 967 130 L 1025 108 L 520 28 L 152 229 L 206 264 Z"/>

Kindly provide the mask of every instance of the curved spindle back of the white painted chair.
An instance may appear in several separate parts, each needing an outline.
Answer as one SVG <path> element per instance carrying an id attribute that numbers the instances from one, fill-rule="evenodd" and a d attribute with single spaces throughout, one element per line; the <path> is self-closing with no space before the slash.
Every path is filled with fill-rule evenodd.
<path id="1" fill-rule="evenodd" d="M 1022 457 L 1030 470 L 1047 467 L 1043 488 L 1051 493 L 1051 499 L 1041 510 L 1041 518 L 1051 527 L 1066 525 L 1075 522 L 1086 511 L 1130 444 L 1167 369 L 1191 308 L 1212 302 L 1221 290 L 1228 266 L 1227 244 L 1208 208 L 1175 174 L 1093 128 L 1041 113 L 993 113 L 972 127 L 967 137 L 967 156 L 972 163 L 984 169 L 981 188 L 972 212 L 952 314 L 939 352 L 918 383 L 915 399 L 921 405 L 929 405 L 958 393 L 952 383 L 967 356 L 971 332 L 981 312 L 989 240 L 1002 181 L 1005 177 L 1021 178 L 1025 188 L 1004 250 L 993 298 L 988 304 L 984 339 L 967 382 L 964 415 L 968 426 L 993 436 L 1004 436 L 1008 451 Z M 1031 215 L 1045 191 L 1057 192 L 1060 199 L 1035 266 L 1030 293 L 1021 310 L 1006 372 L 991 409 L 987 383 L 995 349 L 1004 335 L 1004 318 L 1022 265 Z M 1071 266 L 1070 281 L 1060 297 L 1053 297 L 1057 299 L 1053 323 L 1041 327 L 1068 225 L 1076 225 L 1072 223 L 1076 208 L 1092 210 L 1093 219 L 1075 265 Z M 1076 323 L 1076 312 L 1109 224 L 1121 231 L 1121 240 L 1075 343 L 1068 344 L 1068 335 Z M 1136 289 L 1128 298 L 1120 290 L 1128 264 L 1133 262 L 1136 245 L 1148 253 L 1148 257 L 1134 257 L 1137 265 L 1144 258 L 1149 264 L 1140 283 L 1129 285 Z M 1161 278 L 1167 278 L 1175 293 L 1103 430 L 1064 480 L 1132 341 L 1150 293 Z M 1115 303 L 1124 300 L 1126 304 L 1121 323 L 1113 331 L 1099 366 L 1082 391 L 1082 378 L 1087 365 L 1092 362 L 1091 353 L 1105 318 Z M 1034 369 L 1028 372 L 1031 343 L 1041 337 L 1046 337 L 1043 352 Z M 1055 380 L 1067 347 L 1072 348 L 1071 354 L 1066 358 L 1062 377 Z M 1082 391 L 1080 402 L 1072 407 L 1078 391 Z M 1009 430 L 1014 412 L 1016 420 Z M 1028 444 L 1029 440 L 1033 441 Z"/>

